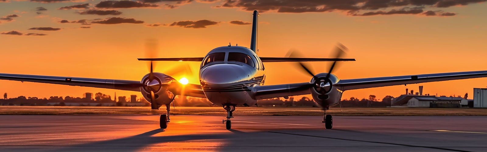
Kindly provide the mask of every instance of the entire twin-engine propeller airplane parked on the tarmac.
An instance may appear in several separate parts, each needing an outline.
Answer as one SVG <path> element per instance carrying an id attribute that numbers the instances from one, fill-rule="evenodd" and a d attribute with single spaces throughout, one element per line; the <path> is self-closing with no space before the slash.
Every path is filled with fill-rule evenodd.
<path id="1" fill-rule="evenodd" d="M 487 77 L 487 71 L 453 72 L 410 76 L 389 76 L 356 79 L 338 79 L 332 74 L 337 61 L 355 61 L 353 58 L 339 58 L 346 47 L 337 46 L 336 58 L 303 58 L 303 57 L 259 57 L 257 55 L 257 27 L 260 14 L 255 10 L 252 17 L 250 48 L 242 46 L 222 46 L 208 52 L 205 57 L 181 58 L 139 58 L 151 61 L 150 73 L 141 81 L 98 79 L 65 76 L 35 76 L 0 74 L 0 79 L 62 84 L 71 86 L 108 88 L 141 92 L 150 101 L 151 109 L 166 105 L 167 114 L 160 115 L 160 128 L 169 124 L 169 104 L 176 95 L 207 98 L 215 105 L 222 106 L 226 112 L 226 129 L 231 129 L 232 112 L 236 106 L 253 106 L 257 100 L 289 97 L 293 95 L 312 95 L 316 104 L 322 107 L 323 123 L 326 129 L 333 128 L 333 117 L 326 114 L 329 107 L 336 106 L 344 91 L 406 85 L 433 81 L 446 81 Z M 173 77 L 153 72 L 152 61 L 200 61 L 200 84 L 183 84 Z M 313 74 L 302 62 L 333 61 L 328 73 Z M 310 74 L 309 82 L 263 85 L 265 67 L 263 62 L 297 62 L 302 70 Z"/>

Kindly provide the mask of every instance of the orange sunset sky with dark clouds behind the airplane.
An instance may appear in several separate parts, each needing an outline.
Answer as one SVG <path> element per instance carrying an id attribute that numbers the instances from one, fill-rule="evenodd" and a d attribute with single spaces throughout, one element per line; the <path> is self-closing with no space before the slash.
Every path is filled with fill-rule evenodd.
<path id="1" fill-rule="evenodd" d="M 487 70 L 487 0 L 0 0 L 0 73 L 140 80 L 155 57 L 204 57 L 219 46 L 248 47 L 252 11 L 258 10 L 260 57 L 331 57 L 337 42 L 349 48 L 340 79 Z M 181 62 L 158 62 L 155 72 Z M 198 84 L 200 62 L 189 62 Z M 329 62 L 310 63 L 315 73 Z M 311 79 L 288 62 L 265 63 L 266 85 Z M 182 76 L 175 76 L 179 79 Z M 355 96 L 398 96 L 405 89 L 464 95 L 486 88 L 487 78 L 346 91 Z M 130 91 L 0 80 L 0 93 L 81 96 Z"/>

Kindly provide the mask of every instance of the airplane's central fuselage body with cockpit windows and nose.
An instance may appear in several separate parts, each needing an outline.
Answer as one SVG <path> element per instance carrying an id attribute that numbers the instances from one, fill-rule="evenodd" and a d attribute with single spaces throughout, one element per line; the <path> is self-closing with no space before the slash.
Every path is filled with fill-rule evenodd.
<path id="1" fill-rule="evenodd" d="M 202 89 L 213 104 L 257 103 L 251 88 L 264 84 L 265 68 L 254 51 L 242 46 L 218 47 L 208 52 L 200 67 Z"/>

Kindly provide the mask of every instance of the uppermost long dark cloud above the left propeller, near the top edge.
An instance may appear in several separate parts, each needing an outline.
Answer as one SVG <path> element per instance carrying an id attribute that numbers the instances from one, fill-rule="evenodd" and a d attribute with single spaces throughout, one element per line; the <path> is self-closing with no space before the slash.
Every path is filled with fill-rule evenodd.
<path id="1" fill-rule="evenodd" d="M 101 1 L 100 3 L 96 4 L 94 7 L 97 8 L 134 8 L 134 7 L 159 7 L 157 4 L 150 4 L 144 3 L 139 1 L 130 1 L 130 0 L 107 0 Z"/>

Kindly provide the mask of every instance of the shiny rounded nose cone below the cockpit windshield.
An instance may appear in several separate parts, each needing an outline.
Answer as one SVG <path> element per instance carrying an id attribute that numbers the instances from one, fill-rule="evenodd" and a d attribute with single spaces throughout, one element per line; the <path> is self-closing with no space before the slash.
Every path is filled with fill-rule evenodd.
<path id="1" fill-rule="evenodd" d="M 247 80 L 249 76 L 249 69 L 236 64 L 211 65 L 201 72 L 201 80 L 210 88 L 227 87 L 232 83 Z"/>

